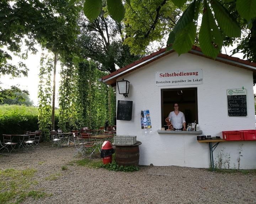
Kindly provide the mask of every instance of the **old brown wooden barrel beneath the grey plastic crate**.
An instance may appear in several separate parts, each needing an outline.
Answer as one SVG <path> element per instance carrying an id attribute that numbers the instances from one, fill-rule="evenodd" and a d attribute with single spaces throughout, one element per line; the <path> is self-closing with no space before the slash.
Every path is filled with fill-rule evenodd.
<path id="1" fill-rule="evenodd" d="M 139 165 L 139 145 L 141 142 L 130 145 L 116 145 L 116 163 L 123 166 Z"/>

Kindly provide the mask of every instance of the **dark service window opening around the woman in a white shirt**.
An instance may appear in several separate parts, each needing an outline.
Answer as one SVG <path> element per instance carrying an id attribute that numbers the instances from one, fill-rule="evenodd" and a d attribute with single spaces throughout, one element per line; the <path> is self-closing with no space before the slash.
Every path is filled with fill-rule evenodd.
<path id="1" fill-rule="evenodd" d="M 161 89 L 162 128 L 166 125 L 165 118 L 174 111 L 174 103 L 179 104 L 179 111 L 184 113 L 186 124 L 194 121 L 198 124 L 197 88 Z"/>

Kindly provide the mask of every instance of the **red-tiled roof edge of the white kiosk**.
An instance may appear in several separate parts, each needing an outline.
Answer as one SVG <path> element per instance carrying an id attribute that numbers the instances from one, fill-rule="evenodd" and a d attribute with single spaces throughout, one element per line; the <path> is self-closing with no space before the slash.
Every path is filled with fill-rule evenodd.
<path id="1" fill-rule="evenodd" d="M 127 66 L 125 66 L 121 69 L 118 69 L 117 71 L 112 72 L 107 76 L 102 77 L 102 81 L 109 85 L 115 86 L 117 77 L 121 77 L 124 74 L 132 72 L 136 69 L 139 69 L 140 67 L 143 67 L 146 64 L 149 64 L 149 63 L 151 63 L 163 56 L 166 56 L 172 52 L 175 52 L 175 51 L 172 49 L 172 50 L 166 52 L 166 48 L 160 49 L 159 51 L 153 52 L 150 55 L 143 57 L 138 61 L 133 62 L 132 64 L 128 64 Z M 195 45 L 192 47 L 192 49 L 191 49 L 191 51 L 189 51 L 189 53 L 203 56 L 206 58 L 210 58 L 210 57 L 207 57 L 206 55 L 204 55 L 202 53 L 201 49 Z M 237 67 L 252 70 L 254 72 L 254 76 L 255 76 L 254 78 L 256 78 L 256 63 L 255 62 L 250 62 L 249 60 L 241 60 L 238 57 L 232 57 L 232 56 L 229 56 L 229 55 L 226 55 L 223 53 L 219 53 L 219 55 L 216 58 L 216 61 L 224 62 L 224 63 L 231 64 L 231 65 L 234 65 Z"/>

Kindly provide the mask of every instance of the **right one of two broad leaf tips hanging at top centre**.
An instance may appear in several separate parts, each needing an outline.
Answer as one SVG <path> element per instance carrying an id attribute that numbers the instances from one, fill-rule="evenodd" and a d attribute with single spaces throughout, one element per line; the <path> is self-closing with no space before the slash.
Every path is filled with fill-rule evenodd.
<path id="1" fill-rule="evenodd" d="M 110 16 L 117 22 L 124 18 L 125 9 L 122 0 L 107 0 L 107 7 Z"/>

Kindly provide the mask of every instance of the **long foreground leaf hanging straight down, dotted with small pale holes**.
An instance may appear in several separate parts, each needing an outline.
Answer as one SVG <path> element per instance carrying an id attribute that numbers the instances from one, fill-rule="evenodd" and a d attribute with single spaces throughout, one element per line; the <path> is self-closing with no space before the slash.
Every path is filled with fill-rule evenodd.
<path id="1" fill-rule="evenodd" d="M 215 59 L 218 56 L 220 49 L 222 48 L 222 36 L 206 0 L 204 0 L 204 5 L 205 10 L 203 13 L 198 40 L 203 53 Z"/>

